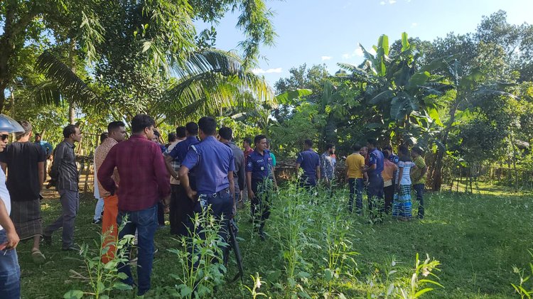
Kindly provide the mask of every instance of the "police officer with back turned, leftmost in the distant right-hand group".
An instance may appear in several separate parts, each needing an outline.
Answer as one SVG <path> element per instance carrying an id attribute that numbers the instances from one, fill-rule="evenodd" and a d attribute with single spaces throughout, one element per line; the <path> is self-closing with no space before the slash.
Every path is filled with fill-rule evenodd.
<path id="1" fill-rule="evenodd" d="M 296 172 L 298 168 L 303 169 L 300 177 L 301 187 L 315 187 L 316 182 L 321 178 L 321 158 L 318 153 L 313 151 L 313 141 L 306 139 L 303 141 L 303 151 L 298 153 L 296 158 Z"/>

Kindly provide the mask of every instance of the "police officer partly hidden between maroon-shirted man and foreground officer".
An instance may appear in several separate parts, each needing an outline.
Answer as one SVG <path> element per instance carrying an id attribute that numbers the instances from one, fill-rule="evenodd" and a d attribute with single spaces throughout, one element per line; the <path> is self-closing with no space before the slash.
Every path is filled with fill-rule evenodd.
<path id="1" fill-rule="evenodd" d="M 183 159 L 185 159 L 185 156 L 187 155 L 189 146 L 193 146 L 200 142 L 198 141 L 197 135 L 198 124 L 194 122 L 186 124 L 185 136 L 187 136 L 187 138 L 185 138 L 184 141 L 181 141 L 180 143 L 176 144 L 176 146 L 174 146 L 172 151 L 170 151 L 169 153 L 164 153 L 166 168 L 168 172 L 172 175 L 172 177 L 176 180 L 180 180 L 180 178 L 178 176 L 178 173 L 176 173 L 176 170 L 174 170 L 173 166 L 171 165 L 171 162 L 175 161 L 176 163 L 183 163 Z M 196 190 L 195 173 L 193 171 L 190 171 L 189 173 L 185 173 L 185 175 L 188 176 L 190 188 L 192 190 Z M 176 190 L 175 196 L 175 202 L 171 202 L 172 211 L 171 217 L 169 218 L 171 222 L 171 234 L 176 234 L 177 236 L 187 236 L 189 217 L 193 214 L 194 205 L 193 202 L 188 199 L 187 193 L 185 192 L 183 185 L 178 185 L 178 190 Z"/>

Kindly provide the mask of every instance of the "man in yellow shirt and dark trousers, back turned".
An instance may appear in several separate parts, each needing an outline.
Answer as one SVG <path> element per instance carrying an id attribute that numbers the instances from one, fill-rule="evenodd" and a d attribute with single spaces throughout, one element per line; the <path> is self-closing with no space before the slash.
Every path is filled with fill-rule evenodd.
<path id="1" fill-rule="evenodd" d="M 365 168 L 365 157 L 359 153 L 361 146 L 356 144 L 353 153 L 346 158 L 346 178 L 350 185 L 350 200 L 348 200 L 348 210 L 352 212 L 353 196 L 357 192 L 355 209 L 357 214 L 362 214 L 362 191 L 365 189 L 365 175 L 362 169 Z"/>

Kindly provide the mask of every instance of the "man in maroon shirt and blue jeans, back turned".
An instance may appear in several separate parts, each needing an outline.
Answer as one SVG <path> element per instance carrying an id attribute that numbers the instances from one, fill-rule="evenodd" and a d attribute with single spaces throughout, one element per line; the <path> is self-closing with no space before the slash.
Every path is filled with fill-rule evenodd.
<path id="1" fill-rule="evenodd" d="M 124 217 L 127 222 L 119 232 L 119 239 L 138 230 L 137 276 L 139 277 L 139 296 L 150 289 L 152 262 L 154 261 L 154 234 L 157 224 L 157 203 L 163 198 L 170 201 L 171 186 L 165 167 L 161 148 L 151 141 L 154 136 L 155 121 L 146 114 L 137 114 L 131 120 L 132 136 L 116 146 L 107 154 L 98 169 L 98 180 L 105 190 L 119 197 L 119 227 Z M 117 168 L 120 187 L 112 179 Z M 126 254 L 129 256 L 129 254 Z M 128 278 L 123 282 L 134 286 L 129 263 L 120 263 L 119 272 Z"/>

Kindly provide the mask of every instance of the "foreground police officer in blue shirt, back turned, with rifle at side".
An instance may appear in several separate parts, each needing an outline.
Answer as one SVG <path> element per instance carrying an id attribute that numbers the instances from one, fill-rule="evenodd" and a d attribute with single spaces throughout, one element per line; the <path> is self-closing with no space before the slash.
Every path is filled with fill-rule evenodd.
<path id="1" fill-rule="evenodd" d="M 195 204 L 195 212 L 207 210 L 222 219 L 220 236 L 227 242 L 227 227 L 235 214 L 235 185 L 233 171 L 235 162 L 232 150 L 217 141 L 217 123 L 212 117 L 204 116 L 198 121 L 200 143 L 190 146 L 181 163 L 179 178 L 188 198 Z M 187 173 L 195 170 L 202 180 L 196 181 L 196 190 L 190 187 Z M 198 198 L 198 200 L 197 200 Z M 200 235 L 200 237 L 202 237 Z"/>

